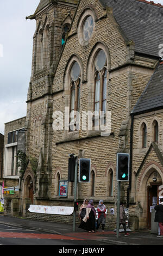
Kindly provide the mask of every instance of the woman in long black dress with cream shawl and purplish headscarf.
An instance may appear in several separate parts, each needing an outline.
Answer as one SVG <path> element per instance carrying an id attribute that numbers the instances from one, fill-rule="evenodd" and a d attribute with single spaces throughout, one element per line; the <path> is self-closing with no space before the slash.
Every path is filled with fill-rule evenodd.
<path id="1" fill-rule="evenodd" d="M 88 232 L 95 232 L 96 230 L 96 210 L 93 205 L 93 200 L 90 200 L 86 207 L 86 215 L 79 225 L 79 228 L 85 229 Z"/>

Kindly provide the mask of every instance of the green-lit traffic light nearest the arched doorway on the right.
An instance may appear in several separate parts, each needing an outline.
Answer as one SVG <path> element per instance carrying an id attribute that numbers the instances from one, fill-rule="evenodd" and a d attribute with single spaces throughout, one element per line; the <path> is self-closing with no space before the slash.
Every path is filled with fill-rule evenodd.
<path id="1" fill-rule="evenodd" d="M 117 153 L 117 180 L 129 181 L 129 154 Z"/>

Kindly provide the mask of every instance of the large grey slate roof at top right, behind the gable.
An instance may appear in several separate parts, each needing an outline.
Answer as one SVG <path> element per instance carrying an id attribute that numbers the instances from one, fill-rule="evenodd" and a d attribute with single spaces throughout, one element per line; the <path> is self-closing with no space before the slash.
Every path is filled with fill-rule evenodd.
<path id="1" fill-rule="evenodd" d="M 159 56 L 163 38 L 163 9 L 137 0 L 99 0 L 111 7 L 118 24 L 128 40 L 135 42 L 135 51 Z"/>

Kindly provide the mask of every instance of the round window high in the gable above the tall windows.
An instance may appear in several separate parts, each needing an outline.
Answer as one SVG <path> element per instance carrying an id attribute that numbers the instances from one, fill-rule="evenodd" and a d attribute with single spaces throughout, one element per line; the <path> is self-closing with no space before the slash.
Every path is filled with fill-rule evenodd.
<path id="1" fill-rule="evenodd" d="M 88 16 L 83 24 L 84 41 L 89 41 L 89 39 L 91 38 L 92 32 L 93 32 L 93 26 L 94 26 L 93 18 L 92 16 Z"/>

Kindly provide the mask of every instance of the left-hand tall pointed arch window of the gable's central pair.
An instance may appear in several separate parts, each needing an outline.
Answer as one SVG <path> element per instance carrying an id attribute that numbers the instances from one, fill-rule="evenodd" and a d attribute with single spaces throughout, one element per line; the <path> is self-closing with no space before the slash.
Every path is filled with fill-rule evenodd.
<path id="1" fill-rule="evenodd" d="M 70 72 L 70 124 L 73 123 L 76 118 L 76 124 L 70 125 L 70 131 L 78 130 L 78 115 L 80 112 L 80 66 L 77 62 L 74 62 Z"/>

